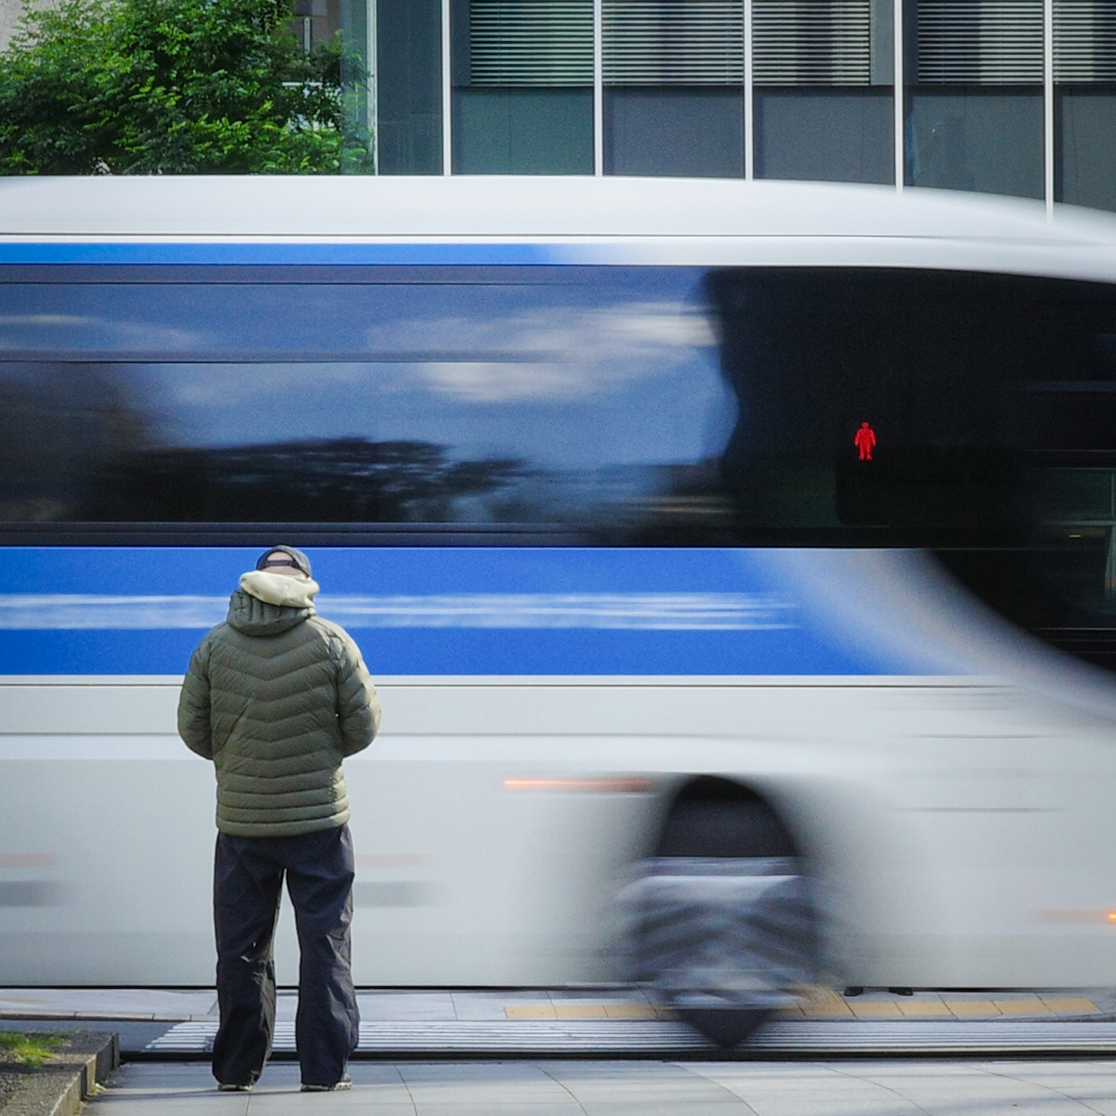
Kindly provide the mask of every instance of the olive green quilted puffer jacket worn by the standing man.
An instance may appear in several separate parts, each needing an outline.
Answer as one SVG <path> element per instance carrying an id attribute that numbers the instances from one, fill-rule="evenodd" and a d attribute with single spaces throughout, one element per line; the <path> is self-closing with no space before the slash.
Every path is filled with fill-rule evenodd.
<path id="1" fill-rule="evenodd" d="M 275 605 L 243 589 L 194 652 L 179 699 L 179 734 L 217 767 L 218 829 L 238 837 L 345 825 L 341 759 L 372 743 L 379 718 L 344 628 L 309 596 Z"/>

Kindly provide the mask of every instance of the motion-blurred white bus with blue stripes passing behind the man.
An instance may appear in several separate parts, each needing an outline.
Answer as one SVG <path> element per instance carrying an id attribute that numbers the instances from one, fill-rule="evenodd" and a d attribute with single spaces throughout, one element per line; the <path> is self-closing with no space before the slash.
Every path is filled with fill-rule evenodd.
<path id="1" fill-rule="evenodd" d="M 0 983 L 212 982 L 174 709 L 275 542 L 383 695 L 359 984 L 624 980 L 656 854 L 800 857 L 820 979 L 1106 982 L 1114 282 L 868 186 L 0 182 Z"/>

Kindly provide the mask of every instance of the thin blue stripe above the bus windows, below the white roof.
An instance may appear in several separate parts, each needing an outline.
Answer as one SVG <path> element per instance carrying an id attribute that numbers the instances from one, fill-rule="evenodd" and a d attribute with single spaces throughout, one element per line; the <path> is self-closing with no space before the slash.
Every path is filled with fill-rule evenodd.
<path id="1" fill-rule="evenodd" d="M 15 243 L 0 242 L 4 263 L 115 264 L 545 264 L 596 262 L 600 252 L 571 244 L 480 243 Z"/>

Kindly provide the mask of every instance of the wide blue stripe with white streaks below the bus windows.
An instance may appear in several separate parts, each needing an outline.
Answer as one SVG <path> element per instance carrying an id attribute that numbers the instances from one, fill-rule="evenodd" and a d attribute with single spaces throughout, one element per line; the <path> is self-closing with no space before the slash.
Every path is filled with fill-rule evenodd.
<path id="1" fill-rule="evenodd" d="M 0 674 L 179 674 L 258 554 L 0 550 Z M 373 674 L 927 673 L 836 631 L 771 552 L 315 548 L 311 560 L 323 615 L 335 598 Z"/>

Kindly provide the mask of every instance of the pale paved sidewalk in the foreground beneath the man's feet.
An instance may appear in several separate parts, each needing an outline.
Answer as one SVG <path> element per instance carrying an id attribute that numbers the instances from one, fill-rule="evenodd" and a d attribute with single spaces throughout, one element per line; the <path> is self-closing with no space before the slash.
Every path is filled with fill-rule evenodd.
<path id="1" fill-rule="evenodd" d="M 270 1065 L 249 1095 L 201 1065 L 132 1064 L 87 1116 L 1114 1116 L 1116 1059 L 965 1062 L 358 1062 L 349 1093 Z"/>

